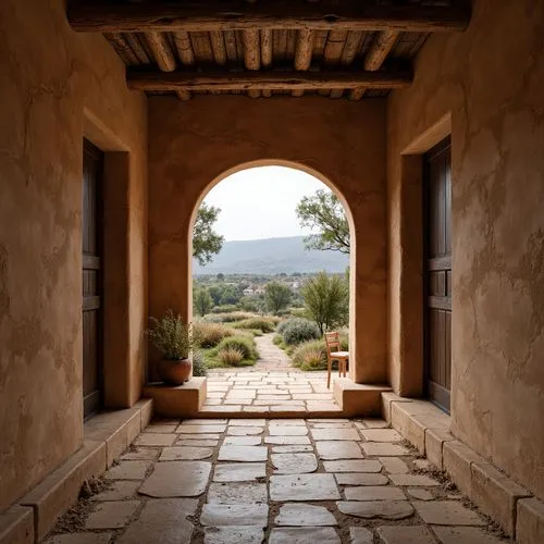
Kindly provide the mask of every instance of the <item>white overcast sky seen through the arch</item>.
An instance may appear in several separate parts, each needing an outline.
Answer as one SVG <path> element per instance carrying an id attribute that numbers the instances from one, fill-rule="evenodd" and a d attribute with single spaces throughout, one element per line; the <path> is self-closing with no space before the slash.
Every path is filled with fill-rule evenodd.
<path id="1" fill-rule="evenodd" d="M 304 196 L 326 186 L 306 172 L 258 166 L 225 177 L 205 198 L 221 208 L 214 230 L 225 240 L 280 238 L 310 233 L 300 228 L 295 208 Z"/>

